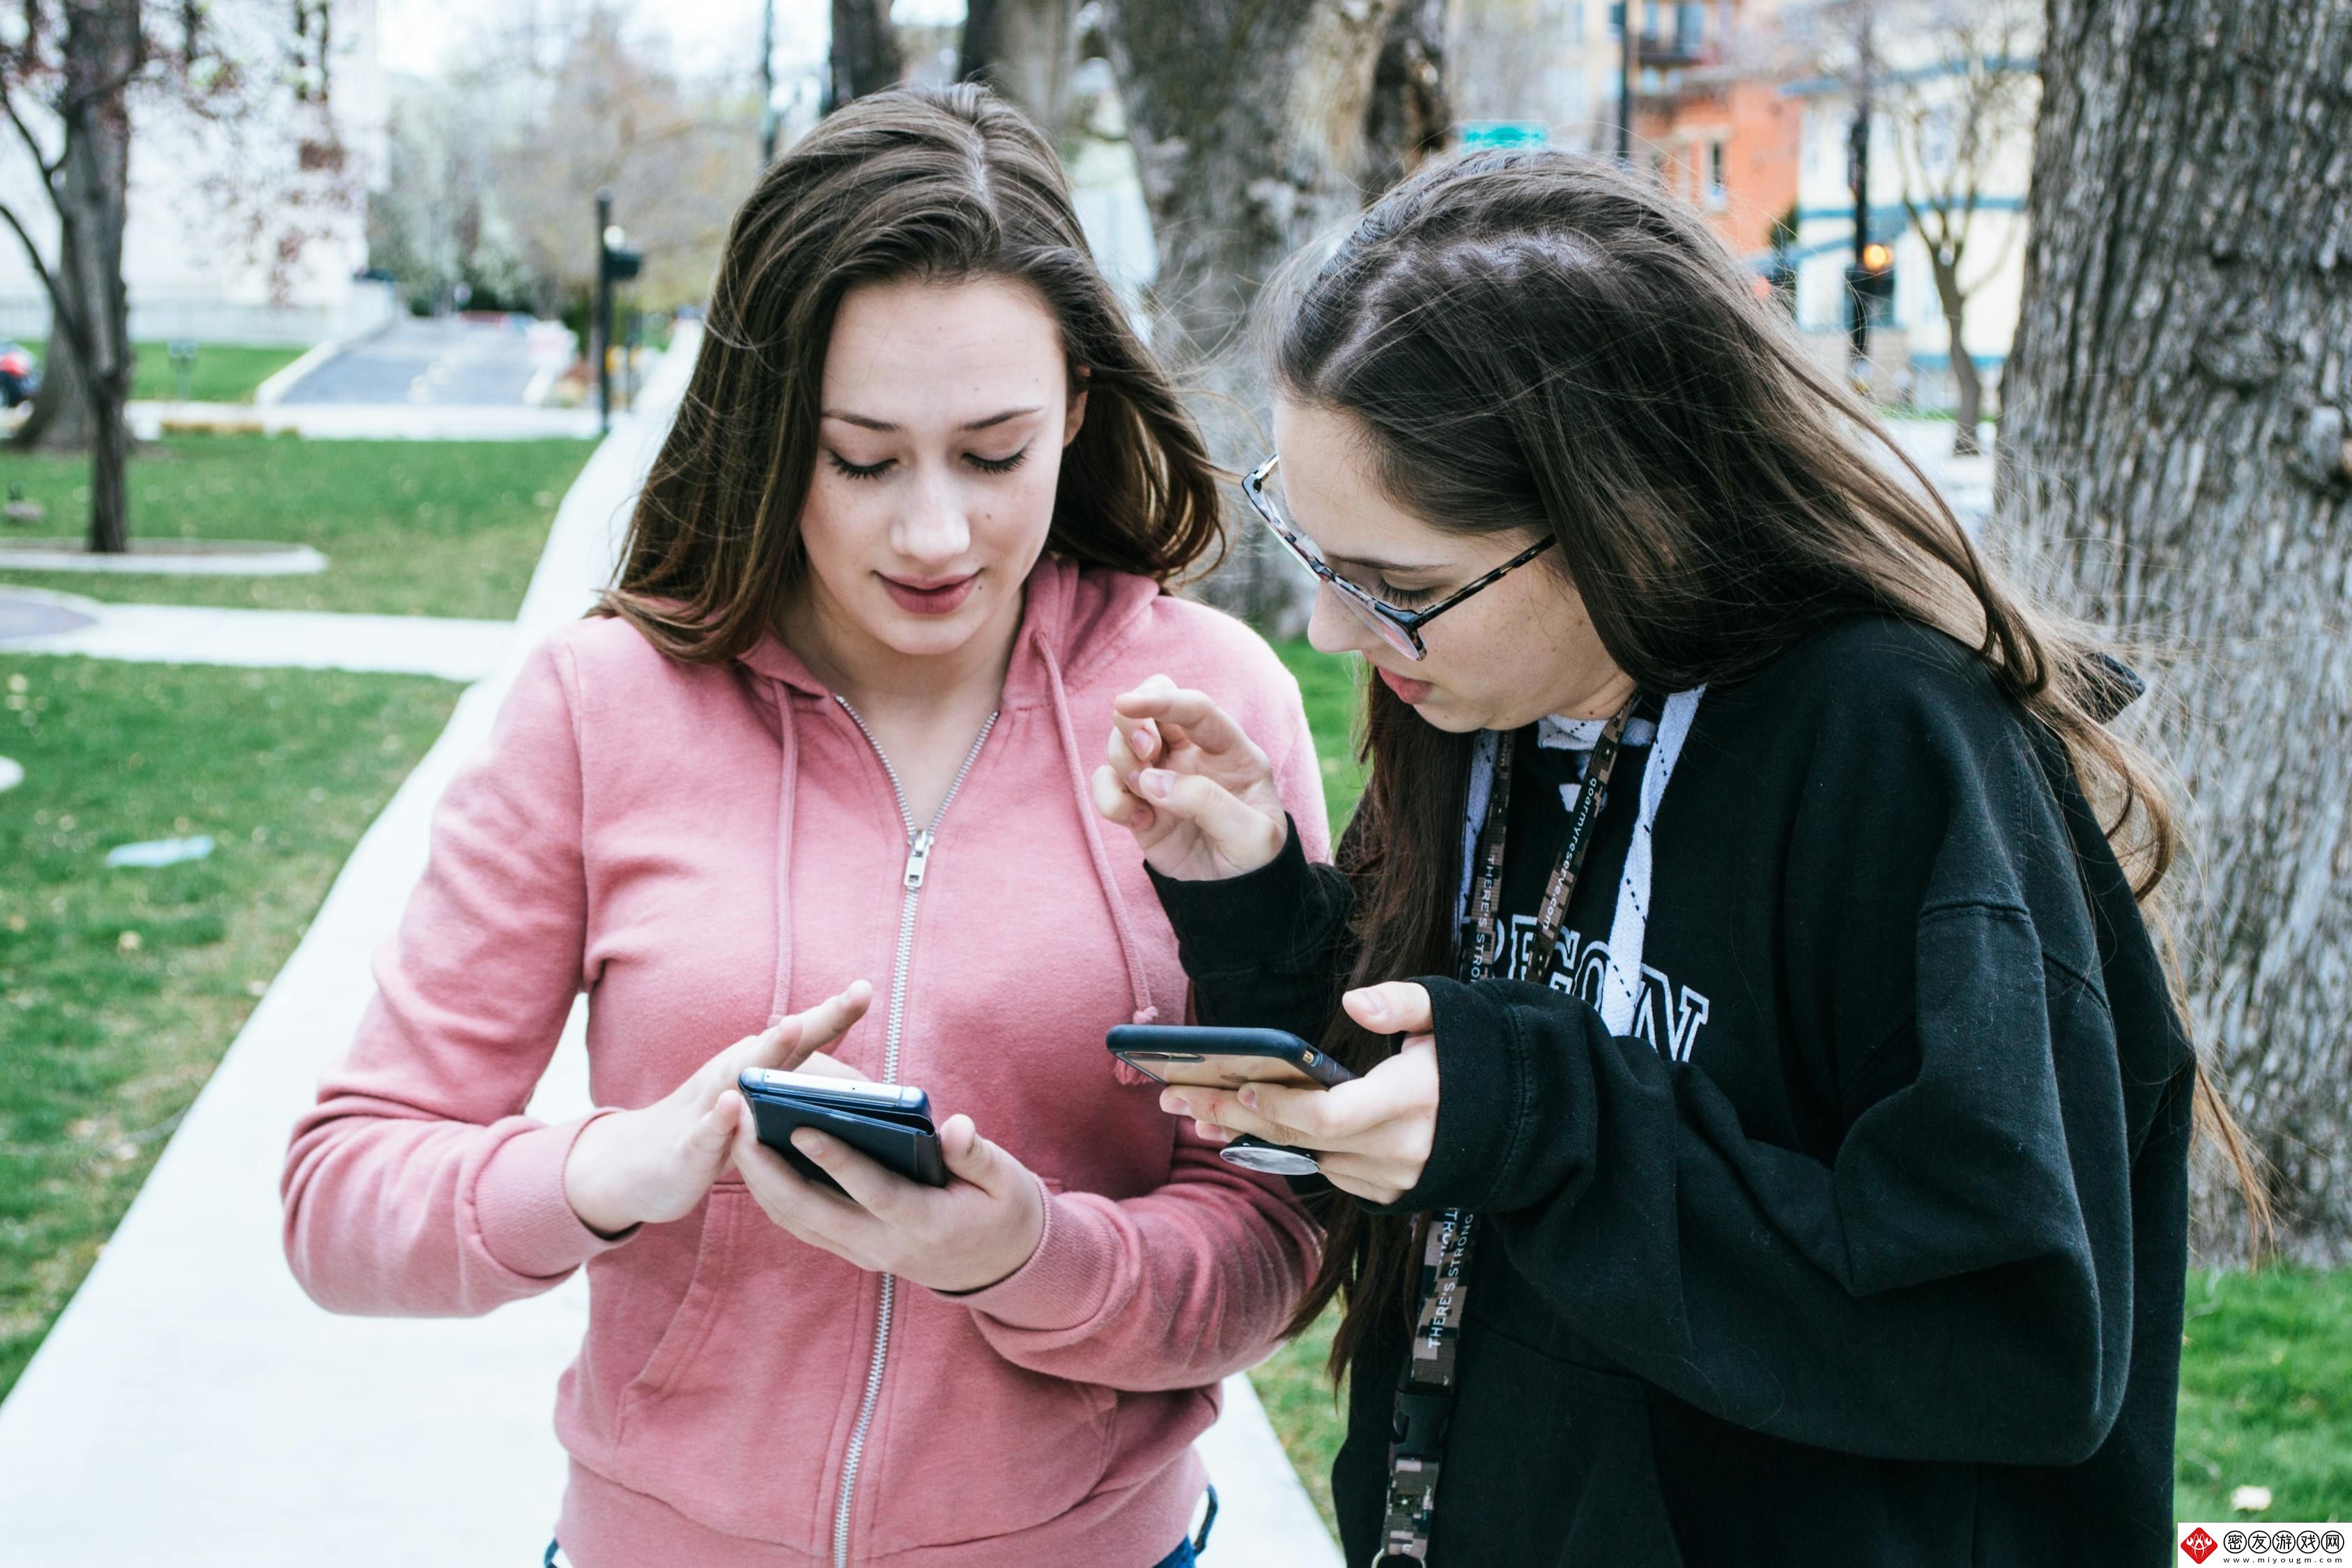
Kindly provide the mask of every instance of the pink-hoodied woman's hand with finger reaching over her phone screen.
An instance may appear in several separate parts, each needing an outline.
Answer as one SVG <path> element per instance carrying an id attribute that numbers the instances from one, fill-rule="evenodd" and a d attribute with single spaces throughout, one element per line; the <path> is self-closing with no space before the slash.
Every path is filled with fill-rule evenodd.
<path id="1" fill-rule="evenodd" d="M 746 1067 L 866 1077 L 823 1056 L 823 1048 L 866 1016 L 873 994 L 873 985 L 854 980 L 807 1013 L 727 1046 L 644 1110 L 593 1119 L 564 1159 L 564 1199 L 572 1201 L 572 1213 L 602 1237 L 691 1213 L 731 1154 L 743 1114 L 736 1077 Z"/>

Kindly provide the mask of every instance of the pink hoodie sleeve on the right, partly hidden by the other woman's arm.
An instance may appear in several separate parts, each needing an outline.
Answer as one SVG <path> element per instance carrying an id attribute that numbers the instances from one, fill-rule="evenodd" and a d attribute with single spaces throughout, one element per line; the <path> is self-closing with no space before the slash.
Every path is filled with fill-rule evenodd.
<path id="1" fill-rule="evenodd" d="M 1308 860 L 1329 860 L 1315 738 L 1296 682 L 1284 696 L 1244 726 L 1272 759 Z M 1256 1366 L 1322 1255 L 1289 1182 L 1228 1166 L 1190 1121 L 1157 1192 L 1047 1192 L 1044 1215 L 1025 1265 L 953 1300 L 1014 1366 L 1115 1389 L 1202 1387 Z"/>

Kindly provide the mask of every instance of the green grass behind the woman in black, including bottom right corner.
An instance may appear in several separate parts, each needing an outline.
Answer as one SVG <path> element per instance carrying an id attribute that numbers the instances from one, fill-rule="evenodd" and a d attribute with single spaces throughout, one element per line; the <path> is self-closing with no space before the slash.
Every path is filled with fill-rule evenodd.
<path id="1" fill-rule="evenodd" d="M 1277 651 L 1298 675 L 1338 832 L 1362 788 L 1348 745 L 1357 661 L 1305 642 Z M 1249 1375 L 1324 1523 L 1345 1425 L 1322 1375 L 1331 1321 Z M 2352 1269 L 2190 1274 L 2176 1476 L 2178 1519 L 2352 1519 Z M 2267 1486 L 2270 1509 L 2232 1514 L 2239 1486 Z"/>

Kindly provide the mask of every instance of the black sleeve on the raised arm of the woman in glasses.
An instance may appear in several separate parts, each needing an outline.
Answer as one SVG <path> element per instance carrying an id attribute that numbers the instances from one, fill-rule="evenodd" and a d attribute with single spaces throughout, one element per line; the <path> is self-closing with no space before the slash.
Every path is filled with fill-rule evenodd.
<path id="1" fill-rule="evenodd" d="M 1150 872 L 1176 929 L 1202 1023 L 1289 1030 L 1319 1041 L 1348 976 L 1348 879 L 1308 865 L 1291 823 L 1282 853 L 1223 882 Z"/>

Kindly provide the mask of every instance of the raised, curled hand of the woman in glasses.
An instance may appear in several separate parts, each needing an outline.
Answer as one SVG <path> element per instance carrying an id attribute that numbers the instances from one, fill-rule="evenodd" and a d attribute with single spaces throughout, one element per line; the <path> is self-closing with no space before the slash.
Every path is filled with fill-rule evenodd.
<path id="1" fill-rule="evenodd" d="M 1110 759 L 1094 809 L 1120 823 L 1162 877 L 1221 882 L 1282 853 L 1291 825 L 1275 769 L 1200 691 L 1155 675 L 1112 705 Z"/>

